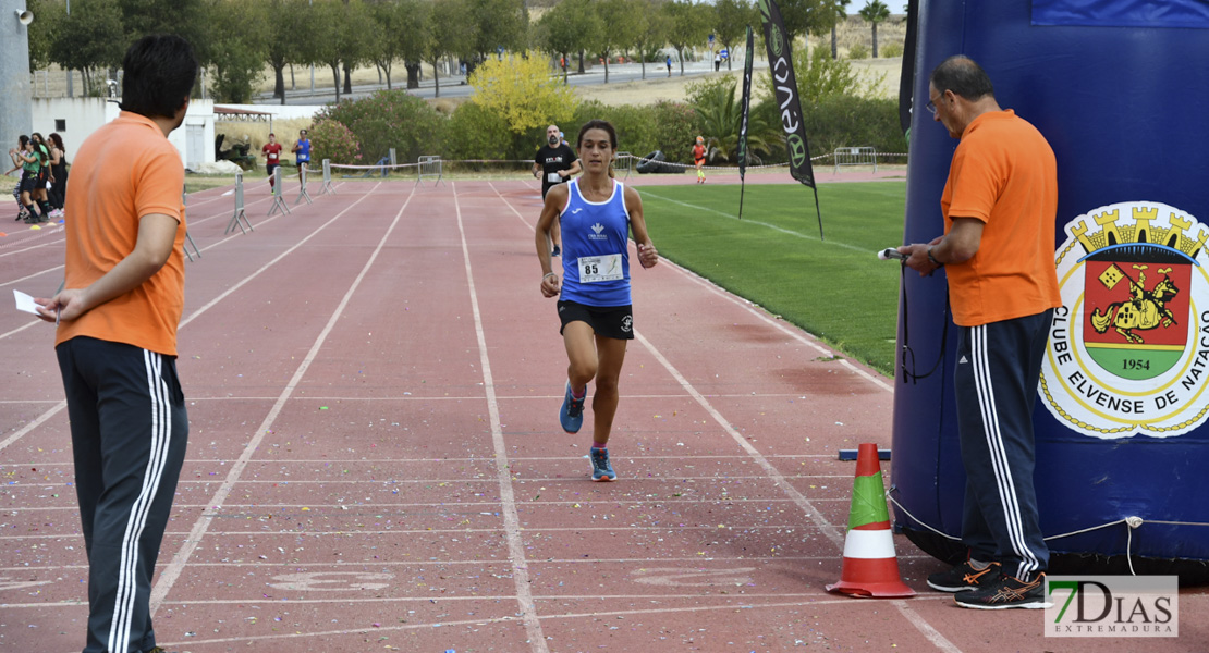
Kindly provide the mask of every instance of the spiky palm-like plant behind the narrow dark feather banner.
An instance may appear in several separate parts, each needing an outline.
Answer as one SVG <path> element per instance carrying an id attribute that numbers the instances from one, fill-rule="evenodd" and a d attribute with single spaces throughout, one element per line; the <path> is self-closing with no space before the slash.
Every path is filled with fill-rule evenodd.
<path id="1" fill-rule="evenodd" d="M 735 162 L 739 154 L 739 132 L 742 129 L 744 106 L 735 99 L 737 80 L 730 78 L 722 83 L 704 88 L 695 97 L 693 109 L 698 115 L 701 133 L 706 135 L 706 158 Z M 780 138 L 779 126 L 765 122 L 760 112 L 751 111 L 747 116 L 747 152 L 752 157 L 748 163 L 758 163 L 758 153 L 768 154 L 773 144 Z"/>

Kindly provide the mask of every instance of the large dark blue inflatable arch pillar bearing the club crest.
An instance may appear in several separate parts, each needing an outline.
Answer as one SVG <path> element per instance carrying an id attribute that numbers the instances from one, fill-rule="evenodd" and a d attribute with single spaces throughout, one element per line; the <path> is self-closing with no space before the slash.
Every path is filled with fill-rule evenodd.
<path id="1" fill-rule="evenodd" d="M 1209 581 L 1209 4 L 919 0 L 915 106 L 944 58 L 982 64 L 1058 158 L 1055 311 L 1037 392 L 1036 489 L 1054 572 Z M 910 48 L 908 48 L 910 52 Z M 943 229 L 956 141 L 910 118 L 904 243 Z M 893 416 L 895 525 L 965 554 L 966 478 L 945 284 L 904 276 Z M 904 316 L 909 322 L 904 322 Z"/>

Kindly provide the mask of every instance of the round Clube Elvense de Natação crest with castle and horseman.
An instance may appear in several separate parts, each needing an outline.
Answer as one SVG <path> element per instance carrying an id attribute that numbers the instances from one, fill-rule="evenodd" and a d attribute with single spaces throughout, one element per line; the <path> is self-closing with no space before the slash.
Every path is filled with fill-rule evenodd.
<path id="1" fill-rule="evenodd" d="M 1209 228 L 1153 202 L 1101 206 L 1066 225 L 1039 392 L 1098 438 L 1172 437 L 1209 415 Z"/>

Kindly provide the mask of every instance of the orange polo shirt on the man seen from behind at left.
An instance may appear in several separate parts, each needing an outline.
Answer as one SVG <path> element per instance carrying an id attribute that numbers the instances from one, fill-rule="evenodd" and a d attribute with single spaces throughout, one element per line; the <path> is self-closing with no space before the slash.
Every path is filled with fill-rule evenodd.
<path id="1" fill-rule="evenodd" d="M 77 336 L 177 355 L 185 304 L 185 167 L 150 118 L 122 111 L 88 136 L 71 165 L 66 197 L 66 285 L 83 288 L 134 251 L 139 218 L 177 218 L 168 262 L 139 287 L 58 327 L 54 344 Z"/>

